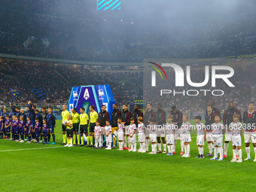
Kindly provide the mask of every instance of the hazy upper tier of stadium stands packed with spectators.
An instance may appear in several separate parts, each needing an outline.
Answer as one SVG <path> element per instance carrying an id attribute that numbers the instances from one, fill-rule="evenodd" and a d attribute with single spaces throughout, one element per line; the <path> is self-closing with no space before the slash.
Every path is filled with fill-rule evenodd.
<path id="1" fill-rule="evenodd" d="M 105 21 L 94 14 L 87 15 L 84 8 L 88 6 L 81 5 L 84 2 L 65 2 L 69 6 L 61 1 L 0 0 L 0 53 L 141 62 L 142 58 L 156 57 L 237 56 L 256 49 L 254 15 L 238 13 L 229 20 L 214 18 L 212 22 L 184 23 L 159 31 L 152 27 L 157 23 Z M 29 36 L 35 40 L 26 48 L 23 42 Z"/>

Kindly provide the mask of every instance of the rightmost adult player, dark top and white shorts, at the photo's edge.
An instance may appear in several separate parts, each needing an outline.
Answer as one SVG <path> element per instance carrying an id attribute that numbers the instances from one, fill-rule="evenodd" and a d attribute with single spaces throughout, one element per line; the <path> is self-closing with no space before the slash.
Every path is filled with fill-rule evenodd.
<path id="1" fill-rule="evenodd" d="M 251 160 L 250 157 L 250 142 L 254 147 L 254 162 L 256 162 L 256 111 L 254 111 L 254 103 L 250 102 L 248 105 L 248 111 L 243 113 L 243 124 L 244 124 L 244 137 L 245 137 L 245 151 L 247 157 L 245 160 Z"/>

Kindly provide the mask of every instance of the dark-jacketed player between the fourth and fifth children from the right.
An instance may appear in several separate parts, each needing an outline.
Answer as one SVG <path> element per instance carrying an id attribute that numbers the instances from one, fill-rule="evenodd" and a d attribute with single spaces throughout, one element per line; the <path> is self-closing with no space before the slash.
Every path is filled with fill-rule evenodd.
<path id="1" fill-rule="evenodd" d="M 173 154 L 175 154 L 175 148 L 176 148 L 176 142 L 177 140 L 181 140 L 181 155 L 184 154 L 183 149 L 184 149 L 184 142 L 182 141 L 181 138 L 181 125 L 182 125 L 182 118 L 183 118 L 183 114 L 181 113 L 181 111 L 179 111 L 177 109 L 177 107 L 175 105 L 172 105 L 172 111 L 171 111 L 171 115 L 173 117 L 172 123 L 175 123 L 175 128 L 177 130 L 175 130 L 175 136 L 174 136 L 174 151 Z"/>

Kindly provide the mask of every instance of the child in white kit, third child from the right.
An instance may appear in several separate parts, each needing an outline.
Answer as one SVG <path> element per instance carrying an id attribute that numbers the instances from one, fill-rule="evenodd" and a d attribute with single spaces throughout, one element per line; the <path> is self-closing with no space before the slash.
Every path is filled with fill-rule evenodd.
<path id="1" fill-rule="evenodd" d="M 198 145 L 198 151 L 199 155 L 196 158 L 203 159 L 203 145 L 205 145 L 205 125 L 201 123 L 202 117 L 201 116 L 196 116 L 196 123 L 197 123 L 197 145 Z"/>

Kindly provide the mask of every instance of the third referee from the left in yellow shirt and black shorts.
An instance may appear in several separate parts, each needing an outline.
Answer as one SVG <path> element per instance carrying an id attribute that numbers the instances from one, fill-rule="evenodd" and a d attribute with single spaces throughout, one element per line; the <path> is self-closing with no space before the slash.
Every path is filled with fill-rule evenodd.
<path id="1" fill-rule="evenodd" d="M 81 136 L 81 145 L 84 146 L 84 135 L 87 137 L 87 141 L 89 141 L 88 136 L 88 123 L 89 123 L 89 116 L 88 114 L 84 113 L 85 109 L 80 108 L 80 136 Z"/>

